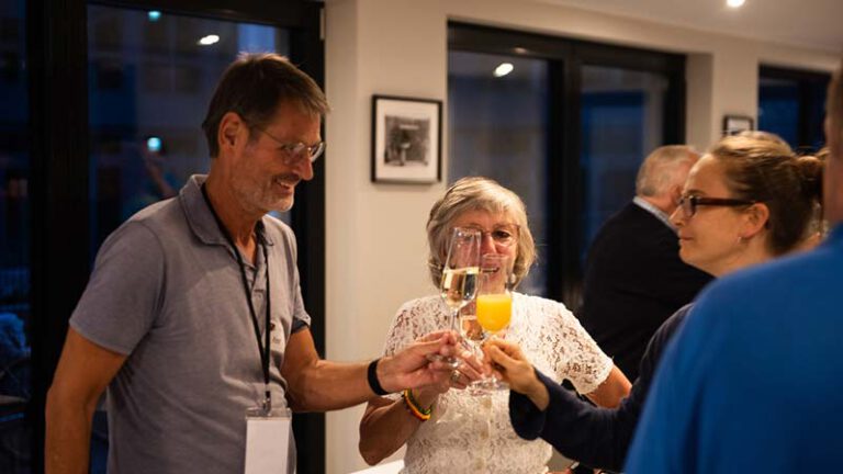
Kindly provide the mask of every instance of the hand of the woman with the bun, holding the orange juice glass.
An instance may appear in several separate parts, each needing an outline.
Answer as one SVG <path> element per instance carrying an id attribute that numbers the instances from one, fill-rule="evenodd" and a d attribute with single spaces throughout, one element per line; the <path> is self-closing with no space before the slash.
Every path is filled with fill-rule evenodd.
<path id="1" fill-rule="evenodd" d="M 548 388 L 536 375 L 536 370 L 521 352 L 521 348 L 504 339 L 491 339 L 483 345 L 486 360 L 492 361 L 495 376 L 509 385 L 509 388 L 527 395 L 539 409 L 544 409 L 550 400 Z"/>

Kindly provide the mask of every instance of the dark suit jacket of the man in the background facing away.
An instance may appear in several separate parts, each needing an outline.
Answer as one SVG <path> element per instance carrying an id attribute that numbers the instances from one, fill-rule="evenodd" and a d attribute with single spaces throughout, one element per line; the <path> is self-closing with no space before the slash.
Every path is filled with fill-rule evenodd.
<path id="1" fill-rule="evenodd" d="M 655 330 L 710 280 L 679 259 L 673 229 L 629 203 L 603 225 L 588 251 L 580 320 L 634 381 Z"/>

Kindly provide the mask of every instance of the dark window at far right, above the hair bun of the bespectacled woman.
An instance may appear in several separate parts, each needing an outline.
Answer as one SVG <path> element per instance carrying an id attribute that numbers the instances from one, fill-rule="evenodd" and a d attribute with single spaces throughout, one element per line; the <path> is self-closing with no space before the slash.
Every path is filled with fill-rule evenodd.
<path id="1" fill-rule="evenodd" d="M 830 80 L 828 74 L 762 66 L 758 129 L 777 134 L 796 150 L 814 153 L 822 148 Z"/>

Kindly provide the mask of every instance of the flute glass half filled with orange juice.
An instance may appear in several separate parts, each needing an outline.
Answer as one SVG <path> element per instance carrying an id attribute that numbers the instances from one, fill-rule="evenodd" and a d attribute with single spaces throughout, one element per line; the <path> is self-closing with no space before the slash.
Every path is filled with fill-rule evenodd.
<path id="1" fill-rule="evenodd" d="M 503 335 L 513 317 L 513 258 L 502 253 L 487 253 L 481 258 L 476 297 L 476 321 L 483 329 L 483 340 Z M 477 392 L 508 388 L 494 376 L 481 380 L 473 387 Z"/>

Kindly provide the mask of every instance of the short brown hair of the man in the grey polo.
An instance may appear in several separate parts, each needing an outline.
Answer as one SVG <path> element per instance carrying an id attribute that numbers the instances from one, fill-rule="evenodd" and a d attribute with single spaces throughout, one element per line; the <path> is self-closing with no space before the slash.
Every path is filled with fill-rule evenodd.
<path id="1" fill-rule="evenodd" d="M 274 53 L 240 54 L 223 72 L 207 106 L 202 129 L 212 158 L 220 155 L 217 132 L 228 112 L 252 127 L 265 127 L 281 103 L 295 103 L 313 115 L 325 115 L 325 94 L 310 76 Z"/>

